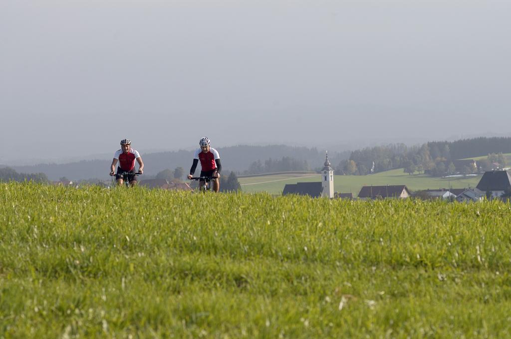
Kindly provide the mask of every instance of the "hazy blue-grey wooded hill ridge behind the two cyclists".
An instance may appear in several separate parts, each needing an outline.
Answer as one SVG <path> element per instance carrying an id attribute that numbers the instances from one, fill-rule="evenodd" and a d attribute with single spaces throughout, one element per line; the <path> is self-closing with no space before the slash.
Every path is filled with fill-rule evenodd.
<path id="1" fill-rule="evenodd" d="M 141 152 L 144 160 L 144 170 L 147 175 L 155 175 L 166 168 L 174 169 L 181 166 L 186 172 L 192 165 L 193 151 L 179 150 L 172 152 L 144 153 Z M 324 152 L 316 148 L 292 147 L 286 145 L 249 146 L 239 145 L 217 148 L 222 159 L 222 166 L 230 171 L 243 172 L 254 161 L 265 161 L 268 159 L 281 159 L 291 157 L 297 160 L 307 160 L 309 166 L 314 169 L 321 167 L 324 162 Z M 115 151 L 115 150 L 114 150 Z M 113 153 L 112 151 L 112 157 Z M 329 152 L 329 159 L 332 164 L 337 164 L 350 156 L 350 151 Z M 107 179 L 111 160 L 84 160 L 67 164 L 39 164 L 33 166 L 9 166 L 17 172 L 24 173 L 45 173 L 50 180 L 57 180 L 60 177 L 68 177 L 72 180 L 83 180 L 91 178 Z M 2 167 L 2 166 L 0 166 Z"/>

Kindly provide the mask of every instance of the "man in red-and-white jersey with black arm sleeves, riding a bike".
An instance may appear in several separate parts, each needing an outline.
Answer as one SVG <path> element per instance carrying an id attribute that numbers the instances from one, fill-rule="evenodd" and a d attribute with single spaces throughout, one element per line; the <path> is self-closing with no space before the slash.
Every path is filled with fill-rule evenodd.
<path id="1" fill-rule="evenodd" d="M 194 153 L 192 168 L 190 168 L 190 174 L 188 178 L 191 179 L 197 168 L 197 164 L 200 161 L 201 177 L 212 177 L 213 190 L 218 192 L 220 190 L 220 171 L 222 170 L 222 164 L 220 164 L 220 155 L 215 148 L 210 147 L 210 140 L 203 137 L 199 141 L 200 148 Z M 202 189 L 204 186 L 204 180 L 199 181 L 199 188 Z"/>

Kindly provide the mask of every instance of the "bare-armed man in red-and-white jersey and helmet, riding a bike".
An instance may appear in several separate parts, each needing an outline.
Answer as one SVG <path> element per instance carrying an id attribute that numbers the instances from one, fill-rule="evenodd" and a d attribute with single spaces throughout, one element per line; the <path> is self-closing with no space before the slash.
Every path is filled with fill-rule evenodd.
<path id="1" fill-rule="evenodd" d="M 138 163 L 138 174 L 144 173 L 144 163 L 142 162 L 142 158 L 140 154 L 131 148 L 131 140 L 123 139 L 121 140 L 121 149 L 119 149 L 113 155 L 112 164 L 110 165 L 110 175 L 114 176 L 117 179 L 117 183 L 119 186 L 124 184 L 124 178 L 121 173 L 128 172 L 133 173 L 131 178 L 129 179 L 129 184 L 131 186 L 136 185 L 136 175 L 135 174 L 135 160 Z M 117 173 L 115 173 L 115 165 L 119 162 L 119 167 L 117 168 Z"/>

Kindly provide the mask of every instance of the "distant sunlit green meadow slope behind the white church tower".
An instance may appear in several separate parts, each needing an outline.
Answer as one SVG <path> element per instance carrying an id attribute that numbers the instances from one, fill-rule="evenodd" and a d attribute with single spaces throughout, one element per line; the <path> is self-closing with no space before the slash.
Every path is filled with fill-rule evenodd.
<path id="1" fill-rule="evenodd" d="M 437 188 L 464 188 L 476 187 L 480 176 L 437 178 L 424 174 L 409 175 L 403 169 L 390 170 L 370 175 L 335 175 L 334 188 L 336 192 L 349 193 L 355 196 L 364 185 L 406 185 L 410 190 L 437 189 Z M 277 181 L 278 180 L 278 181 Z M 293 176 L 265 176 L 240 178 L 244 192 L 269 192 L 280 194 L 286 184 L 296 184 L 298 181 L 320 181 L 319 174 Z M 260 184 L 257 184 L 257 183 Z M 248 185 L 247 185 L 248 184 Z"/>

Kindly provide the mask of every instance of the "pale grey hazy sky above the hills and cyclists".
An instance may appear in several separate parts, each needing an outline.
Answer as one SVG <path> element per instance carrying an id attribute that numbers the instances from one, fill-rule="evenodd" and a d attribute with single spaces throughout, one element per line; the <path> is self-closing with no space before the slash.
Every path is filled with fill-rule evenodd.
<path id="1" fill-rule="evenodd" d="M 2 0 L 0 163 L 511 135 L 508 0 Z"/>

